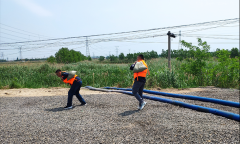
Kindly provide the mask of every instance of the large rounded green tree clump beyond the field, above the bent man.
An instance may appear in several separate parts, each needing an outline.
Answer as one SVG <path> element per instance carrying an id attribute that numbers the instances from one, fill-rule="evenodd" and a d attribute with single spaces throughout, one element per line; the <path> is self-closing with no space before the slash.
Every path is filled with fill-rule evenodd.
<path id="1" fill-rule="evenodd" d="M 86 60 L 87 58 L 78 51 L 69 50 L 68 48 L 61 48 L 55 54 L 57 63 L 75 63 Z"/>

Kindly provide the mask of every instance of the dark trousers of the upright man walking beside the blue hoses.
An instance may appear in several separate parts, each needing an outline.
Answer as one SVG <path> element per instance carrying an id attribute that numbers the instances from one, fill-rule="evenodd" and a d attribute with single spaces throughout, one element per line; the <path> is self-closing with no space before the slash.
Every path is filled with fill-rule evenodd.
<path id="1" fill-rule="evenodd" d="M 133 84 L 132 87 L 132 93 L 136 97 L 136 99 L 139 101 L 139 105 L 143 103 L 143 89 L 144 89 L 144 82 L 136 81 Z"/>

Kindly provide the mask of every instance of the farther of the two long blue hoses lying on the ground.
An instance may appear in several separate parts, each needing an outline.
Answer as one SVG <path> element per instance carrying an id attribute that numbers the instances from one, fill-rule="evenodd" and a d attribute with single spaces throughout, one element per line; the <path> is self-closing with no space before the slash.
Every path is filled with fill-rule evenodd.
<path id="1" fill-rule="evenodd" d="M 124 91 L 132 91 L 132 89 L 130 89 L 130 88 L 116 88 L 116 87 L 104 87 L 104 88 L 124 90 Z M 183 99 L 191 99 L 191 100 L 199 100 L 199 101 L 204 101 L 204 102 L 217 103 L 217 104 L 222 104 L 222 105 L 237 107 L 237 108 L 240 107 L 238 102 L 226 101 L 226 100 L 221 100 L 221 99 L 199 97 L 199 96 L 192 96 L 192 95 L 165 93 L 165 92 L 151 91 L 151 90 L 146 90 L 146 89 L 144 89 L 143 92 L 149 93 L 149 94 L 155 94 L 155 95 L 163 95 L 163 96 L 167 96 L 167 97 L 183 98 Z"/>

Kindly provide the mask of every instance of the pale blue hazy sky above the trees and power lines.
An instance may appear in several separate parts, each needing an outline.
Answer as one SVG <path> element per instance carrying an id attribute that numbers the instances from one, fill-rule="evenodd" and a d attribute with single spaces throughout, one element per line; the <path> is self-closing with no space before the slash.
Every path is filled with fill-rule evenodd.
<path id="1" fill-rule="evenodd" d="M 239 18 L 239 0 L 0 0 L 0 43 L 127 32 L 232 18 Z M 188 29 L 169 30 L 184 33 Z M 161 31 L 161 34 L 167 32 Z M 198 35 L 224 35 L 222 39 L 202 39 L 211 45 L 211 51 L 239 48 L 239 22 L 193 34 L 196 36 L 183 35 L 181 39 L 197 44 Z M 179 37 L 172 39 L 172 49 L 178 49 L 178 41 Z M 23 58 L 49 57 L 62 47 L 34 49 L 28 43 L 21 46 Z M 85 43 L 64 47 L 86 54 Z M 91 56 L 151 50 L 161 53 L 167 50 L 167 36 L 135 42 L 95 43 L 89 45 L 89 50 Z M 2 54 L 9 60 L 20 57 L 19 45 L 0 45 L 0 59 Z"/>

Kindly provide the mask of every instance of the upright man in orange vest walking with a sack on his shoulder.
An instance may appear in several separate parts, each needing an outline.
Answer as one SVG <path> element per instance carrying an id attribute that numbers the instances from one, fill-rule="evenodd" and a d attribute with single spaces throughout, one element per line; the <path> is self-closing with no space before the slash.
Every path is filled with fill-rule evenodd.
<path id="1" fill-rule="evenodd" d="M 134 76 L 134 84 L 132 87 L 132 93 L 133 95 L 136 97 L 136 99 L 139 101 L 139 110 L 142 110 L 144 108 L 144 106 L 147 104 L 147 102 L 143 101 L 143 89 L 144 89 L 144 85 L 146 83 L 146 75 L 148 71 L 148 66 L 144 61 L 144 57 L 142 54 L 138 55 L 137 57 L 137 61 L 135 63 L 133 63 L 130 67 L 130 70 L 134 71 L 134 67 L 136 65 L 137 62 L 141 62 L 146 69 L 140 72 L 135 72 L 133 74 Z"/>

